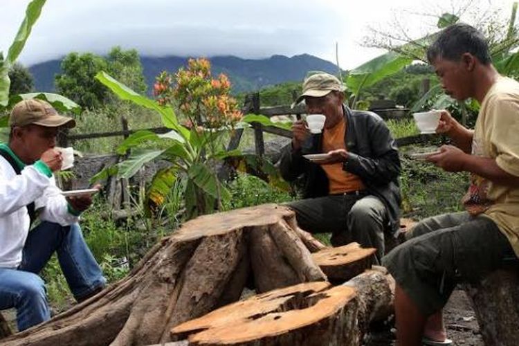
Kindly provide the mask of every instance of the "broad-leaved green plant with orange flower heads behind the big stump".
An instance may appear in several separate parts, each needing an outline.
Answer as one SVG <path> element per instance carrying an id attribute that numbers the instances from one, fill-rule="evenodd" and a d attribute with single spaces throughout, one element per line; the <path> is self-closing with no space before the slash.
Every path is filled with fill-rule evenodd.
<path id="1" fill-rule="evenodd" d="M 167 134 L 151 131 L 132 134 L 118 147 L 119 154 L 131 151 L 127 160 L 103 170 L 92 178 L 93 181 L 109 174 L 128 178 L 146 163 L 169 161 L 171 166 L 154 176 L 147 191 L 147 205 L 152 209 L 161 206 L 180 175 L 185 179 L 183 197 L 190 218 L 221 209 L 222 202 L 230 199 L 230 193 L 217 176 L 217 161 L 234 158 L 243 165 L 255 165 L 258 170 L 270 167 L 260 158 L 251 160 L 238 150 L 226 150 L 222 138 L 234 131 L 242 114 L 228 95 L 230 83 L 226 77 L 211 77 L 208 60 L 190 60 L 188 69 L 180 69 L 174 76 L 159 75 L 154 86 L 157 100 L 139 95 L 107 73 L 98 73 L 96 78 L 122 100 L 131 100 L 158 112 L 163 126 L 171 131 Z M 172 84 L 173 80 L 175 84 Z M 172 104 L 179 106 L 183 123 L 177 118 Z M 247 125 L 240 123 L 240 126 Z M 275 170 L 268 172 L 277 174 Z"/>

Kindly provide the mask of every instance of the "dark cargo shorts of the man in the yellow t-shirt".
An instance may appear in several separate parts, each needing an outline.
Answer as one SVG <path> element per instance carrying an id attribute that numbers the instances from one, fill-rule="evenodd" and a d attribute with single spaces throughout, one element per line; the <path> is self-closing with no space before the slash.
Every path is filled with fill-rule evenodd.
<path id="1" fill-rule="evenodd" d="M 424 316 L 445 306 L 457 282 L 476 282 L 516 260 L 507 237 L 484 215 L 430 217 L 407 238 L 382 262 Z"/>

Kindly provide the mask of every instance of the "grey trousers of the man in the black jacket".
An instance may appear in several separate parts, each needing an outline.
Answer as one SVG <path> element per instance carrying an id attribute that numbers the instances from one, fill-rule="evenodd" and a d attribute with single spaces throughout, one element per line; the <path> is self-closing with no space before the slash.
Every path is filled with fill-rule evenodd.
<path id="1" fill-rule="evenodd" d="M 384 230 L 388 211 L 370 194 L 334 194 L 287 203 L 295 211 L 300 228 L 310 233 L 331 233 L 331 244 L 358 242 L 376 248 L 376 260 L 384 255 Z"/>

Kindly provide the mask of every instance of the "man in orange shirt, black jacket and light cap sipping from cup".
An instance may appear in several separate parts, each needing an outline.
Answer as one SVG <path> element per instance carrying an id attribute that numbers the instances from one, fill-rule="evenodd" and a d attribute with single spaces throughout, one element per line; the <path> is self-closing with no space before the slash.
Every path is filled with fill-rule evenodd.
<path id="1" fill-rule="evenodd" d="M 293 124 L 291 144 L 282 149 L 280 170 L 286 181 L 304 180 L 304 199 L 289 203 L 298 224 L 311 233 L 331 232 L 331 244 L 358 242 L 384 254 L 385 234 L 399 229 L 400 160 L 384 120 L 369 111 L 354 111 L 344 102 L 344 86 L 320 72 L 303 83 L 307 113 L 326 117 L 321 134 L 307 123 Z M 304 154 L 327 153 L 321 161 Z"/>

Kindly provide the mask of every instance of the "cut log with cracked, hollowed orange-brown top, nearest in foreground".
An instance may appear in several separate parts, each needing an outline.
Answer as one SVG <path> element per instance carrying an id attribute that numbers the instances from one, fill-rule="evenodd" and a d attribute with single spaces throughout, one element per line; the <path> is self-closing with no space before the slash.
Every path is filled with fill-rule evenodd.
<path id="1" fill-rule="evenodd" d="M 230 304 L 172 329 L 188 345 L 358 345 L 355 290 L 309 282 Z"/>

